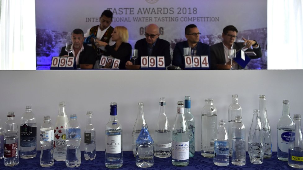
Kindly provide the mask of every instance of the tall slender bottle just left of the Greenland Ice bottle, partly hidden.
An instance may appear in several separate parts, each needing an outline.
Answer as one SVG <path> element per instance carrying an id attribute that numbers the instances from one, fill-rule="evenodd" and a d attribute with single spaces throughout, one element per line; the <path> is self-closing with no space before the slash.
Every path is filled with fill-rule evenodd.
<path id="1" fill-rule="evenodd" d="M 264 151 L 264 158 L 271 158 L 272 155 L 272 141 L 271 141 L 271 131 L 270 125 L 267 117 L 266 111 L 266 100 L 265 95 L 260 95 L 260 117 L 261 117 L 261 124 L 264 132 L 265 137 L 265 151 Z"/>

